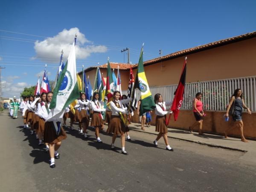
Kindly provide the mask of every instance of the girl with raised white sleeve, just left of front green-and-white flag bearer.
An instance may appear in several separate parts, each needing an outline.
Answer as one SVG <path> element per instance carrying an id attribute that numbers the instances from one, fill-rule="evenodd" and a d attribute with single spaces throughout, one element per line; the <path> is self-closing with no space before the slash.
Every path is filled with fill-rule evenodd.
<path id="1" fill-rule="evenodd" d="M 38 136 L 38 139 L 39 139 L 39 143 L 38 145 L 43 145 L 43 135 L 41 133 L 41 131 L 39 130 L 39 119 L 40 119 L 40 116 L 39 116 L 39 111 L 40 111 L 40 108 L 41 108 L 41 97 L 37 97 L 35 98 L 34 102 L 32 102 L 32 104 L 30 105 L 30 108 L 33 109 L 35 111 L 35 115 L 33 116 L 33 129 L 36 130 L 36 133 L 37 133 L 37 136 Z"/>

